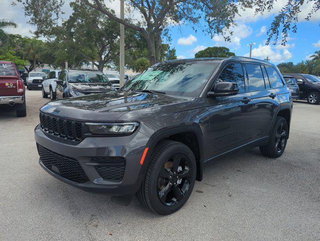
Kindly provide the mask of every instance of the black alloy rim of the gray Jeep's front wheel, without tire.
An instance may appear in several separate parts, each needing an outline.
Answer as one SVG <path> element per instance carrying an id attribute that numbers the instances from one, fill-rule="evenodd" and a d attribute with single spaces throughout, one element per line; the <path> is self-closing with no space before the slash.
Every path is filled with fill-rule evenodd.
<path id="1" fill-rule="evenodd" d="M 179 203 L 188 192 L 192 173 L 190 159 L 184 154 L 174 154 L 162 166 L 158 177 L 158 197 L 166 206 Z"/>

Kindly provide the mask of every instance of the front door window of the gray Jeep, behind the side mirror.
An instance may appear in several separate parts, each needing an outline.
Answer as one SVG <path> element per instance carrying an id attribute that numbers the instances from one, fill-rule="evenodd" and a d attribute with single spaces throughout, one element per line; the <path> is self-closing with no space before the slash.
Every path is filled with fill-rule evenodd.
<path id="1" fill-rule="evenodd" d="M 218 82 L 238 83 L 239 93 L 246 91 L 245 78 L 241 63 L 228 64 L 218 77 Z"/>

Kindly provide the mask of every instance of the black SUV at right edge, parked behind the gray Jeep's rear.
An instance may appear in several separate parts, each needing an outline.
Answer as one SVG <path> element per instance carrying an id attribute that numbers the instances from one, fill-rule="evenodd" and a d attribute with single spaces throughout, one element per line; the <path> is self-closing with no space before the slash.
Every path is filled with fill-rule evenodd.
<path id="1" fill-rule="evenodd" d="M 309 104 L 320 102 L 320 79 L 312 74 L 283 74 L 292 76 L 299 85 L 300 99 L 306 99 Z"/>

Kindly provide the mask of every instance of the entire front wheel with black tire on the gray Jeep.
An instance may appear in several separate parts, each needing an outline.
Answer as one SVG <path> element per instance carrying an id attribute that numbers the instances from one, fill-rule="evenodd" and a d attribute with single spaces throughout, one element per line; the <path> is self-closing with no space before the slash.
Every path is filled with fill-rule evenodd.
<path id="1" fill-rule="evenodd" d="M 154 150 L 146 178 L 137 193 L 138 199 L 158 214 L 171 214 L 190 197 L 195 177 L 192 151 L 180 142 L 163 141 Z"/>

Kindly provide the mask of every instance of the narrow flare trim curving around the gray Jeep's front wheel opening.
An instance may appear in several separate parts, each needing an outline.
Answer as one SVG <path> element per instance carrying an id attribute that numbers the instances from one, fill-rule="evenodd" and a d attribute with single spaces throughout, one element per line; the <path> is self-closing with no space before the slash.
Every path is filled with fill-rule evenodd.
<path id="1" fill-rule="evenodd" d="M 197 162 L 197 175 L 196 180 L 201 181 L 202 180 L 202 168 L 203 168 L 203 135 L 200 127 L 196 123 L 184 123 L 185 126 L 180 125 L 174 125 L 168 127 L 162 128 L 155 132 L 149 139 L 149 141 L 146 144 L 146 147 L 149 148 L 148 153 L 145 157 L 145 161 L 141 167 L 140 175 L 146 175 L 147 170 L 149 168 L 150 162 L 151 162 L 151 156 L 153 154 L 153 151 L 159 141 L 162 139 L 165 139 L 171 135 L 179 134 L 183 132 L 193 132 L 197 138 L 198 146 L 199 146 L 199 154 L 200 158 Z"/>

